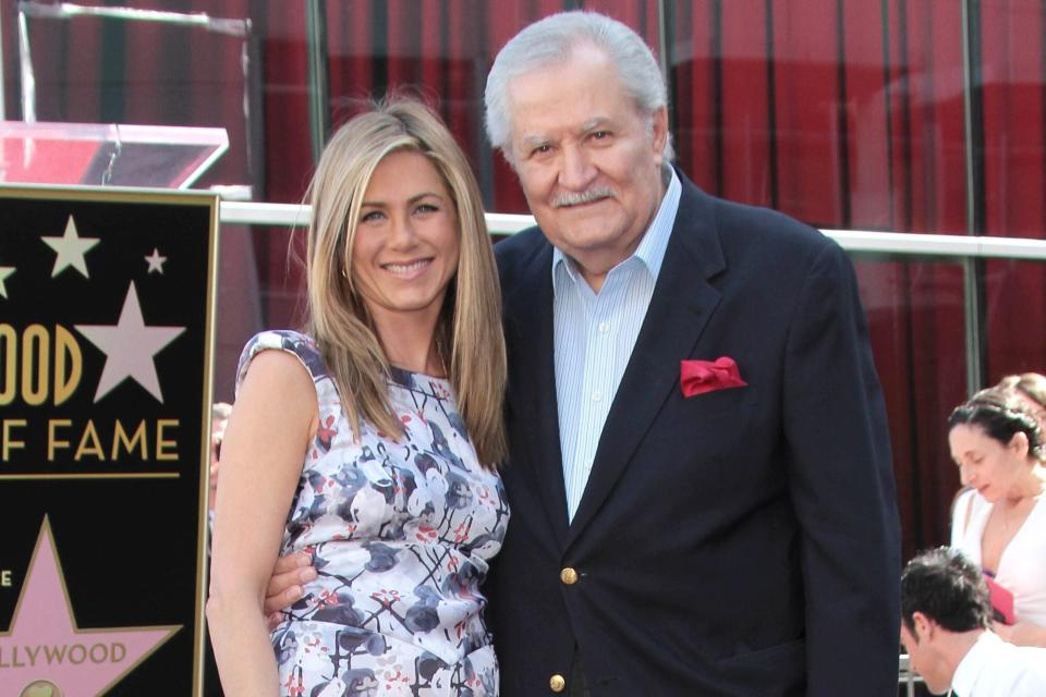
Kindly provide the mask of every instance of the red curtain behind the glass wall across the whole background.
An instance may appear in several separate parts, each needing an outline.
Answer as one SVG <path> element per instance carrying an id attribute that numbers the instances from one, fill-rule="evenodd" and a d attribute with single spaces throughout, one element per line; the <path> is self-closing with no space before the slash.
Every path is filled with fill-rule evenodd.
<path id="1" fill-rule="evenodd" d="M 301 3 L 136 2 L 250 17 L 264 121 L 247 168 L 238 40 L 98 20 L 31 22 L 41 120 L 222 125 L 231 148 L 204 184 L 257 181 L 256 198 L 299 201 L 312 173 Z M 14 0 L 4 11 L 9 113 L 16 112 Z M 678 160 L 710 193 L 822 228 L 966 231 L 960 3 L 924 0 L 356 0 L 326 3 L 329 110 L 337 126 L 372 97 L 410 88 L 434 100 L 499 212 L 525 212 L 514 174 L 486 144 L 482 99 L 498 49 L 526 24 L 584 7 L 660 46 L 666 12 Z M 975 3 L 971 154 L 983 234 L 1046 236 L 1046 10 Z M 291 232 L 256 231 L 259 311 L 296 317 Z M 299 235 L 300 236 L 300 235 Z M 990 380 L 1046 369 L 1046 267 L 984 266 Z M 954 261 L 859 257 L 887 399 L 905 553 L 947 539 L 958 487 L 944 419 L 965 396 L 963 276 Z M 224 321 L 224 320 L 223 320 Z"/>

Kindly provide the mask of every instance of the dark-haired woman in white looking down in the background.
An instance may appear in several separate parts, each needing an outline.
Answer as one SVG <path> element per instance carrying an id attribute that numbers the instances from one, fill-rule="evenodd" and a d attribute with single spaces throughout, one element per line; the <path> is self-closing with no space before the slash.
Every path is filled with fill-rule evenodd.
<path id="1" fill-rule="evenodd" d="M 966 491 L 952 513 L 951 546 L 1013 594 L 1013 644 L 1046 646 L 1046 444 L 1027 398 L 977 392 L 948 417 L 951 456 Z"/>

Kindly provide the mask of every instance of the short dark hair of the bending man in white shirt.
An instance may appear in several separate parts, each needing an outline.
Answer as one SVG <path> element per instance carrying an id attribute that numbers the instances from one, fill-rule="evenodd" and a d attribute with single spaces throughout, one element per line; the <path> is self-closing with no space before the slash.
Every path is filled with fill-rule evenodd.
<path id="1" fill-rule="evenodd" d="M 901 619 L 913 634 L 915 612 L 949 632 L 987 628 L 992 603 L 984 576 L 961 553 L 947 547 L 919 554 L 901 574 Z"/>

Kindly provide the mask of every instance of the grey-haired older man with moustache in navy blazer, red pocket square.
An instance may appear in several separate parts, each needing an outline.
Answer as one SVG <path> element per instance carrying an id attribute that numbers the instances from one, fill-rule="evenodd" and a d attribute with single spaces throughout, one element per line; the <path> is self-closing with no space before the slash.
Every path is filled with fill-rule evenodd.
<path id="1" fill-rule="evenodd" d="M 523 29 L 487 82 L 538 223 L 497 247 L 501 694 L 893 695 L 898 521 L 852 266 L 673 169 L 666 101 L 649 48 L 593 13 Z"/>

